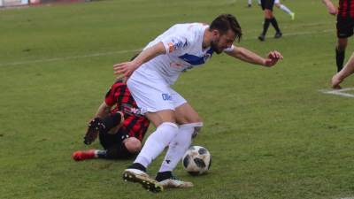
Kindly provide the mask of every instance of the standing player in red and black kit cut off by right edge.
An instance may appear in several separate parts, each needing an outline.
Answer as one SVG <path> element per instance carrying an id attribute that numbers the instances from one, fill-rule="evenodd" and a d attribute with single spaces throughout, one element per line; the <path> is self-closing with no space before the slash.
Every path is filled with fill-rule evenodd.
<path id="1" fill-rule="evenodd" d="M 353 35 L 354 28 L 354 0 L 339 0 L 338 10 L 330 0 L 322 0 L 327 5 L 328 12 L 337 15 L 337 45 L 335 47 L 335 60 L 337 72 L 342 70 L 345 57 L 345 49 L 348 44 L 348 37 Z"/>

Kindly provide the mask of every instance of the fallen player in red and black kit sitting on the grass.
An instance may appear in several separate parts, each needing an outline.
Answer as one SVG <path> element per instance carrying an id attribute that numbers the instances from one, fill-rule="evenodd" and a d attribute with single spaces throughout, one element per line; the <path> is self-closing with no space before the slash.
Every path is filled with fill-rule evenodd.
<path id="1" fill-rule="evenodd" d="M 118 80 L 107 92 L 96 118 L 89 122 L 84 137 L 84 143 L 89 145 L 98 136 L 104 150 L 78 150 L 73 153 L 73 159 L 132 157 L 142 149 L 142 139 L 149 125 L 149 119 L 140 114 L 125 80 Z"/>

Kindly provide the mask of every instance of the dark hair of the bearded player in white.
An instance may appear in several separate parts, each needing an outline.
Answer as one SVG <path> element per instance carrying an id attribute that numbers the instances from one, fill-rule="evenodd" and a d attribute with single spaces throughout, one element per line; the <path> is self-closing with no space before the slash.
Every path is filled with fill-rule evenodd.
<path id="1" fill-rule="evenodd" d="M 231 29 L 236 36 L 236 40 L 240 42 L 242 37 L 242 30 L 237 19 L 232 14 L 221 14 L 212 21 L 210 30 L 217 29 L 220 34 L 227 34 L 227 31 Z"/>

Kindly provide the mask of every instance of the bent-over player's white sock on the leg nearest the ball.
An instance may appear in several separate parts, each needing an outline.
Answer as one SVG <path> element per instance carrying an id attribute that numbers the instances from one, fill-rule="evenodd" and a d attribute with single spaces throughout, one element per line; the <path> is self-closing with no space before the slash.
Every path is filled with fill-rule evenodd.
<path id="1" fill-rule="evenodd" d="M 194 133 L 196 127 L 195 124 L 202 124 L 203 126 L 203 123 L 192 123 L 180 126 L 178 134 L 168 145 L 168 150 L 165 155 L 164 162 L 162 162 L 158 172 L 173 171 L 173 169 L 178 165 L 186 150 L 189 149 L 190 143 L 192 142 L 192 134 Z"/>

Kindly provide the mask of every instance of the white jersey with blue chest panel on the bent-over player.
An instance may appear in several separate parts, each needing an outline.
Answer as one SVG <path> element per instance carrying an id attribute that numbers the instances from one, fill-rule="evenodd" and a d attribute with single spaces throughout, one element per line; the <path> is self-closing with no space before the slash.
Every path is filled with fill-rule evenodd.
<path id="1" fill-rule="evenodd" d="M 208 27 L 202 23 L 177 24 L 170 27 L 144 48 L 145 50 L 158 42 L 163 42 L 166 54 L 144 63 L 137 72 L 151 76 L 158 74 L 166 84 L 172 85 L 181 72 L 203 65 L 212 57 L 212 48 L 202 47 L 204 31 Z M 227 50 L 233 48 L 234 46 Z"/>

